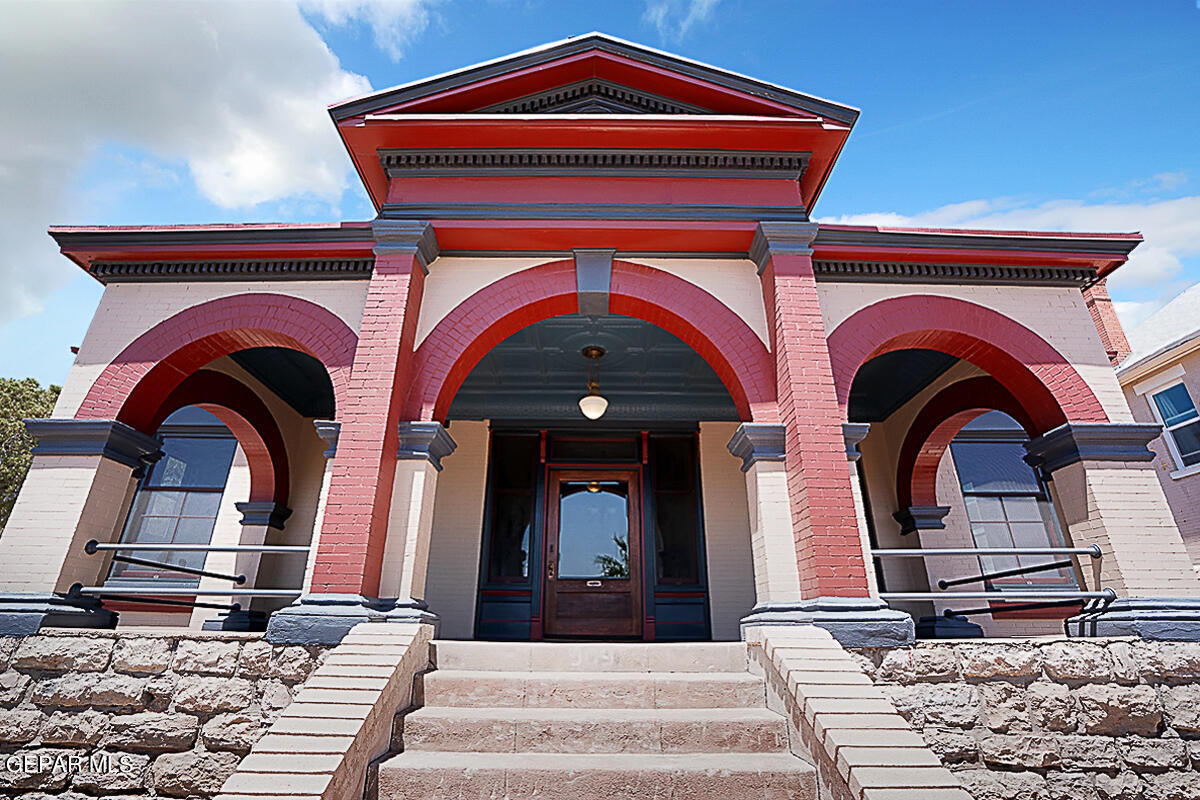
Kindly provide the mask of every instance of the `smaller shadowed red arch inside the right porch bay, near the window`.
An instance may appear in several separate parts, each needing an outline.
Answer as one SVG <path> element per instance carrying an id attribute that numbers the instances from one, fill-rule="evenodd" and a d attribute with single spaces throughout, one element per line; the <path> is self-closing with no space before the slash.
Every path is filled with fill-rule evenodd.
<path id="1" fill-rule="evenodd" d="M 991 375 L 967 378 L 935 395 L 908 426 L 896 463 L 899 507 L 937 505 L 937 467 L 950 441 L 971 420 L 1003 411 L 1031 437 L 1036 426 L 1025 408 Z"/>

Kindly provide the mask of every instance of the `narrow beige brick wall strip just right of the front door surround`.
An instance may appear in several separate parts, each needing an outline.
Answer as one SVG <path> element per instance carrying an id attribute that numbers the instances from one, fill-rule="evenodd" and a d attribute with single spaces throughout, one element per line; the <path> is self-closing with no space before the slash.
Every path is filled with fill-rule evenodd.
<path id="1" fill-rule="evenodd" d="M 740 639 L 739 622 L 755 604 L 746 481 L 742 461 L 725 446 L 737 428 L 737 422 L 700 423 L 708 602 L 718 642 Z"/>

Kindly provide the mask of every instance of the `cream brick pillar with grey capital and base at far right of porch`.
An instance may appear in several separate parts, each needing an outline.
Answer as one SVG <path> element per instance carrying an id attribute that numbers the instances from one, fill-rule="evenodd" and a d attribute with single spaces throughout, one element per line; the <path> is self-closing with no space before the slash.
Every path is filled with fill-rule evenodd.
<path id="1" fill-rule="evenodd" d="M 1100 587 L 1118 600 L 1070 621 L 1072 633 L 1200 639 L 1200 578 L 1192 569 L 1147 449 L 1157 425 L 1068 423 L 1027 445 L 1050 477 L 1070 543 L 1104 555 Z M 1085 566 L 1087 566 L 1085 564 Z"/>

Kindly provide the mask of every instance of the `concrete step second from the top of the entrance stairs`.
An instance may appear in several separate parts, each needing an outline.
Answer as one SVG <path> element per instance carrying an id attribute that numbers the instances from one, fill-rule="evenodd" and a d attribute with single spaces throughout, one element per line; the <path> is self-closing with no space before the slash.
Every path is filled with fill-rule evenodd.
<path id="1" fill-rule="evenodd" d="M 421 705 L 467 708 L 761 708 L 761 678 L 739 673 L 491 672 L 437 669 L 421 676 Z"/>

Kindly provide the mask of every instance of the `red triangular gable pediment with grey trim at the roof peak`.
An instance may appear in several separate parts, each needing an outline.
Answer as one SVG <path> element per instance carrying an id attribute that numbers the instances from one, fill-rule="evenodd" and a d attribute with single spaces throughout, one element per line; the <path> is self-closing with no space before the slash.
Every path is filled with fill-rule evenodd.
<path id="1" fill-rule="evenodd" d="M 588 34 L 338 103 L 342 121 L 389 114 L 726 114 L 858 110 L 605 34 Z"/>

